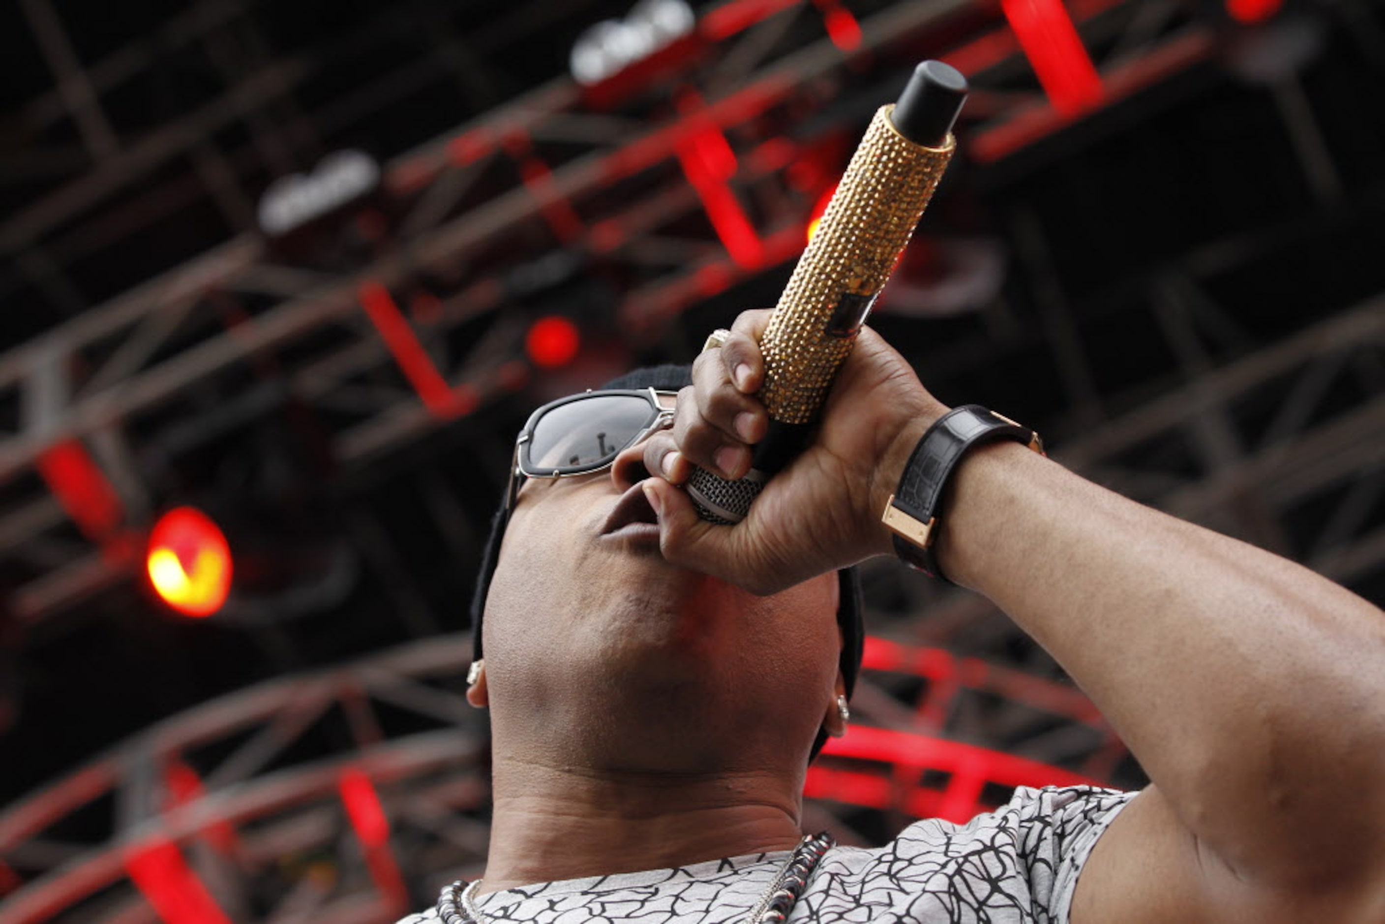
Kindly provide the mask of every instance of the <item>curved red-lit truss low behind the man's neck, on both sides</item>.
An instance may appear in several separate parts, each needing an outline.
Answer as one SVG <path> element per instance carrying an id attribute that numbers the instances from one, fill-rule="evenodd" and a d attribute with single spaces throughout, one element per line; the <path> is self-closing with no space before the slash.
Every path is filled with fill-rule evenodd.
<path id="1" fill-rule="evenodd" d="M 0 924 L 364 924 L 478 876 L 489 736 L 463 695 L 470 655 L 468 639 L 443 636 L 273 680 L 162 722 L 10 806 Z M 807 783 L 805 824 L 843 842 L 881 835 L 855 830 L 863 810 L 896 830 L 965 820 L 1015 785 L 1107 781 L 1125 755 L 1068 684 L 879 637 L 864 666 L 852 729 Z M 1014 723 L 1011 709 L 1008 723 L 963 740 L 968 698 L 1028 719 Z M 1014 740 L 1029 756 L 997 749 Z"/>

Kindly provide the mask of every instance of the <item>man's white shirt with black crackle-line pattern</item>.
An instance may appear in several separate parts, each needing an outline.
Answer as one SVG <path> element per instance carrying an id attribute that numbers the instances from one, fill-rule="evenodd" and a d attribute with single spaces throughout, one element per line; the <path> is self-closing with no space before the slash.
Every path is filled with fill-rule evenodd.
<path id="1" fill-rule="evenodd" d="M 1093 787 L 1021 787 L 1008 803 L 964 826 L 918 821 L 881 848 L 832 848 L 788 920 L 1066 921 L 1091 846 L 1133 797 Z M 490 921 L 738 924 L 787 859 L 788 852 L 756 853 L 542 882 L 492 892 L 476 903 Z M 428 910 L 399 924 L 438 920 Z"/>

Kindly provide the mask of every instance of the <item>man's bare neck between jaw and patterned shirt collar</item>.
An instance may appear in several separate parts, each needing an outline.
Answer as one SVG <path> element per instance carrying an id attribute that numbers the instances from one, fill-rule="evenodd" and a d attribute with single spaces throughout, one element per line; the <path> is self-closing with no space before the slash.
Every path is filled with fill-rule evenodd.
<path id="1" fill-rule="evenodd" d="M 482 894 L 586 876 L 787 851 L 802 838 L 796 780 L 496 765 Z"/>

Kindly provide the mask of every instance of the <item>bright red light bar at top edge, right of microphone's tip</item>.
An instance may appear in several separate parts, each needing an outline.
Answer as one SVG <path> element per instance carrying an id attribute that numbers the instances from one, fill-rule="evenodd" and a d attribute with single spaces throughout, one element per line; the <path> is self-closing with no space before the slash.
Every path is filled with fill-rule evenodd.
<path id="1" fill-rule="evenodd" d="M 1101 103 L 1101 78 L 1061 0 L 1000 0 L 1053 108 L 1080 115 Z"/>

